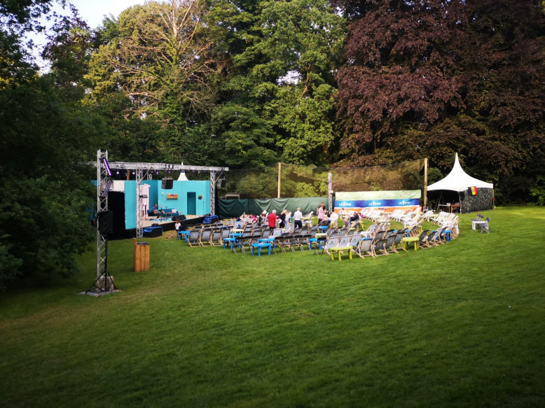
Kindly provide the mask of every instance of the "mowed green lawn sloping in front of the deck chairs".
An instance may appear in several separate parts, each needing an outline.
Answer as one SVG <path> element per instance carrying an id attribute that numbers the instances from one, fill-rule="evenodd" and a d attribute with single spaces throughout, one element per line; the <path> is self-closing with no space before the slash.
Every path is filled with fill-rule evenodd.
<path id="1" fill-rule="evenodd" d="M 341 262 L 109 243 L 120 293 L 0 298 L 2 407 L 542 407 L 545 209 L 436 248 Z"/>

